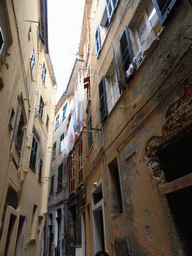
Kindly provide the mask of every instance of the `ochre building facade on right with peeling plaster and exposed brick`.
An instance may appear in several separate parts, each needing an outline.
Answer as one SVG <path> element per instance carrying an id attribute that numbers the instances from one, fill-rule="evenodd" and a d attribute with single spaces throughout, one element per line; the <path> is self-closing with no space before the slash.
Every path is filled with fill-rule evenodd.
<path id="1" fill-rule="evenodd" d="M 190 0 L 87 0 L 67 255 L 190 255 Z"/>

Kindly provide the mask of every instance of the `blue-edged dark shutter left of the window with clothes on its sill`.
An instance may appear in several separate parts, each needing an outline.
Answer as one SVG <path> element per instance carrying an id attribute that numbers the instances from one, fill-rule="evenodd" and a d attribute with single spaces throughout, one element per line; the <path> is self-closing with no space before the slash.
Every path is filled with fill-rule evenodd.
<path id="1" fill-rule="evenodd" d="M 121 51 L 123 70 L 124 70 L 124 73 L 126 73 L 127 69 L 129 68 L 129 65 L 133 60 L 133 51 L 132 51 L 131 40 L 130 40 L 129 31 L 127 27 L 125 27 L 123 34 L 119 39 L 119 47 Z M 126 82 L 128 82 L 128 80 Z"/>

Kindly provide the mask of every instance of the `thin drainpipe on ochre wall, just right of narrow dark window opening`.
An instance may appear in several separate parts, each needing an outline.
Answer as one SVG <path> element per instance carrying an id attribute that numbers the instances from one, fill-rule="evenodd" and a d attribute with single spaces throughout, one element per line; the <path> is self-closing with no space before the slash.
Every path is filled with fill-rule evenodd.
<path id="1" fill-rule="evenodd" d="M 121 176 L 121 167 L 120 167 L 120 161 L 119 161 L 119 152 L 118 148 L 116 149 L 117 151 L 117 164 L 118 164 L 118 171 L 119 171 L 119 181 L 120 181 L 120 187 L 121 187 L 121 197 L 122 197 L 122 204 L 123 204 L 123 216 L 124 216 L 124 221 L 125 221 L 125 228 L 126 228 L 126 239 L 127 239 L 127 248 L 128 248 L 128 253 L 129 256 L 131 256 L 131 248 L 129 244 L 129 229 L 128 229 L 128 224 L 126 220 L 126 215 L 125 215 L 125 200 L 124 200 L 124 193 L 123 193 L 123 184 L 122 184 L 122 176 Z"/>

